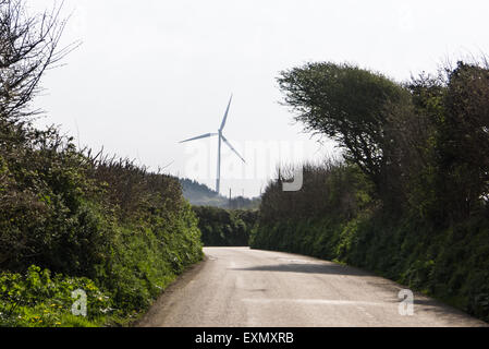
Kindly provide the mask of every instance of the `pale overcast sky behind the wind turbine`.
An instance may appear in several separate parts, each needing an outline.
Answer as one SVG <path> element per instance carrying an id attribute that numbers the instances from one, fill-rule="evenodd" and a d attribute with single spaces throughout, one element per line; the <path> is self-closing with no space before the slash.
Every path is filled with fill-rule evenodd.
<path id="1" fill-rule="evenodd" d="M 482 0 L 65 0 L 70 14 L 63 43 L 83 45 L 46 74 L 39 124 L 215 188 L 217 140 L 178 142 L 216 132 L 233 93 L 224 134 L 247 160 L 223 148 L 221 192 L 233 195 L 259 194 L 279 160 L 331 153 L 279 104 L 280 71 L 347 61 L 404 81 L 447 58 L 489 53 Z"/>

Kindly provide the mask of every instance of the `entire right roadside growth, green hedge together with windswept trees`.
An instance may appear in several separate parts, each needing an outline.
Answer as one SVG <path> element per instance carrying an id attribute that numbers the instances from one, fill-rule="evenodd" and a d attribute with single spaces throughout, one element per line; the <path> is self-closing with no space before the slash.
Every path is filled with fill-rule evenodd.
<path id="1" fill-rule="evenodd" d="M 252 248 L 365 267 L 489 321 L 488 76 L 487 62 L 406 84 L 349 64 L 283 72 L 296 120 L 344 159 L 303 166 L 298 192 L 281 169 Z"/>

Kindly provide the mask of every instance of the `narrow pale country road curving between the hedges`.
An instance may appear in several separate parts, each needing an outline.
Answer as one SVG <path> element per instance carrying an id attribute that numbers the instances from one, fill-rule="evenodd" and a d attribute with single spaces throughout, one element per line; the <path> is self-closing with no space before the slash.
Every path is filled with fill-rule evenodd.
<path id="1" fill-rule="evenodd" d="M 206 261 L 171 286 L 139 326 L 485 326 L 424 296 L 401 315 L 402 287 L 302 255 L 206 248 Z"/>

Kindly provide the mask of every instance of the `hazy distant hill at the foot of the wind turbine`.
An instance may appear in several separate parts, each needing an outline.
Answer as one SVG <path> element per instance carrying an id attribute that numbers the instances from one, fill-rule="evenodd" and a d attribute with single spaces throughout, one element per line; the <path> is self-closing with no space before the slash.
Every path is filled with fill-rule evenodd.
<path id="1" fill-rule="evenodd" d="M 253 209 L 258 208 L 260 198 L 247 198 L 243 196 L 233 197 L 230 202 L 229 197 L 218 194 L 215 190 L 206 184 L 199 183 L 187 178 L 179 179 L 182 185 L 183 196 L 195 206 L 215 206 L 221 208 L 233 209 Z"/>

